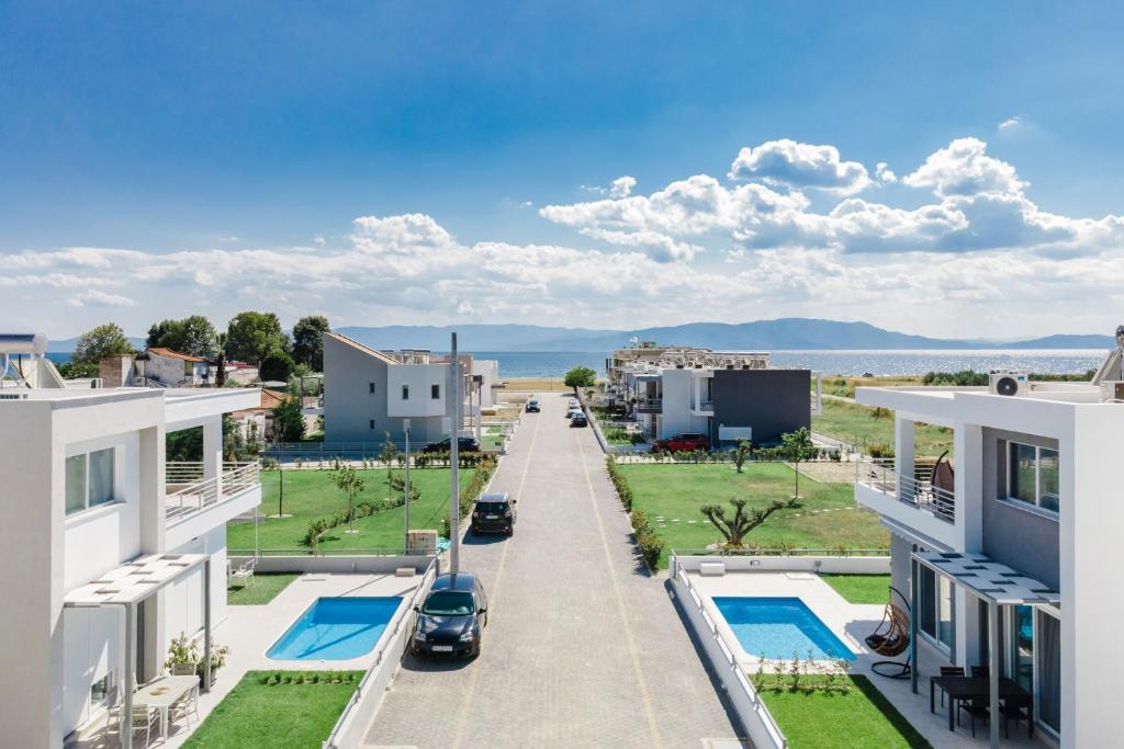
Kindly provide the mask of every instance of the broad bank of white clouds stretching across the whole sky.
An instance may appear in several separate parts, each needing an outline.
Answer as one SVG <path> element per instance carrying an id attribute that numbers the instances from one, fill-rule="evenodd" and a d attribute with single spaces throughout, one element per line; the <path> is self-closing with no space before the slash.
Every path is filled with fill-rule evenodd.
<path id="1" fill-rule="evenodd" d="M 887 183 L 888 171 L 873 174 Z M 937 150 L 906 180 L 935 197 L 919 207 L 853 195 L 821 204 L 763 177 L 697 174 L 649 194 L 624 182 L 619 197 L 606 188 L 597 200 L 538 210 L 586 248 L 466 244 L 434 217 L 408 213 L 356 218 L 342 245 L 8 253 L 0 312 L 70 336 L 94 307 L 142 332 L 161 317 L 205 312 L 221 325 L 245 309 L 288 322 L 315 310 L 353 325 L 470 317 L 624 327 L 825 317 L 826 303 L 830 317 L 897 329 L 1016 335 L 1107 328 L 1103 318 L 1124 304 L 1121 217 L 1039 208 L 1014 167 L 975 139 Z M 999 309 L 1005 327 L 988 329 Z"/>

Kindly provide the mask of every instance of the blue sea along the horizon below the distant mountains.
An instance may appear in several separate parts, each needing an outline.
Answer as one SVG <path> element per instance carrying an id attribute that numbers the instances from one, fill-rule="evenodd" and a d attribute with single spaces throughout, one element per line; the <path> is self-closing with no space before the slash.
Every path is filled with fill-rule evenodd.
<path id="1" fill-rule="evenodd" d="M 608 351 L 473 351 L 499 362 L 500 377 L 561 377 L 578 365 L 605 374 Z M 773 366 L 809 368 L 824 374 L 900 376 L 926 372 L 1023 369 L 1035 374 L 1087 372 L 1100 365 L 1102 349 L 907 349 L 907 350 L 774 350 Z M 47 356 L 61 364 L 70 354 Z"/>

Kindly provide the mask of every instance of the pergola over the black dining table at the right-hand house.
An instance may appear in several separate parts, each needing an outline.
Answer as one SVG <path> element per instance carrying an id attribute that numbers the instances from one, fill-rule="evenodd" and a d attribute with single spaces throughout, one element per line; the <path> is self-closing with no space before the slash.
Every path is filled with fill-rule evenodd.
<path id="1" fill-rule="evenodd" d="M 962 586 L 987 604 L 988 621 L 988 711 L 991 714 L 990 746 L 999 746 L 999 606 L 1059 605 L 1061 594 L 1033 577 L 991 561 L 982 554 L 917 551 L 913 558 L 937 575 Z M 909 658 L 917 663 L 917 606 L 919 585 L 910 592 Z M 917 668 L 910 670 L 910 686 L 917 693 Z"/>

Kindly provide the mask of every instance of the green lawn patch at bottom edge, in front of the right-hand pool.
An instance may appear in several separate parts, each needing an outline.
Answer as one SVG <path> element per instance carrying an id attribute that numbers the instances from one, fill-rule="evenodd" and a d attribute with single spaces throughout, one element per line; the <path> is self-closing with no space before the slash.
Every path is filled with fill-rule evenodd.
<path id="1" fill-rule="evenodd" d="M 788 692 L 761 696 L 792 749 L 932 749 L 865 676 L 849 692 Z"/>

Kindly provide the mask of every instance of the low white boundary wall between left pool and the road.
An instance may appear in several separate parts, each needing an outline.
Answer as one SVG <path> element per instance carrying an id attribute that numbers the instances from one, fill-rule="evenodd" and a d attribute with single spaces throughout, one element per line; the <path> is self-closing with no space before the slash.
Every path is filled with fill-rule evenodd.
<path id="1" fill-rule="evenodd" d="M 426 569 L 422 584 L 418 585 L 409 601 L 404 602 L 395 614 L 393 620 L 387 624 L 390 636 L 387 643 L 375 651 L 374 663 L 368 668 L 363 681 L 359 683 L 359 688 L 347 701 L 347 706 L 339 715 L 332 733 L 324 740 L 323 749 L 353 749 L 363 742 L 366 727 L 374 720 L 382 704 L 382 695 L 390 685 L 390 681 L 401 665 L 402 655 L 410 640 L 410 628 L 405 625 L 410 621 L 410 612 L 418 605 L 429 592 L 434 578 L 437 576 L 437 563 L 432 561 Z"/>

